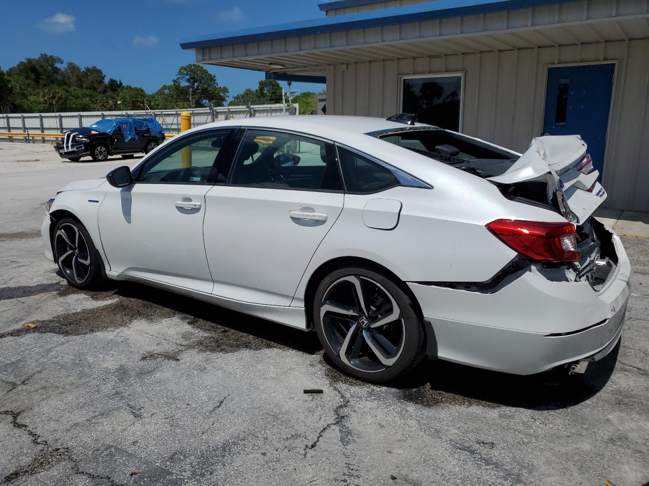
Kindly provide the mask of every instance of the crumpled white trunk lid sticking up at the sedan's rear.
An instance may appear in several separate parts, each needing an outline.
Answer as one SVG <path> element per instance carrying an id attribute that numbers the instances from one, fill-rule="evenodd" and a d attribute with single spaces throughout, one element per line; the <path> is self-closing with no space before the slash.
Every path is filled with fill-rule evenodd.
<path id="1" fill-rule="evenodd" d="M 597 181 L 599 172 L 587 170 L 592 162 L 586 150 L 587 145 L 578 135 L 537 137 L 504 174 L 488 180 L 515 184 L 546 179 L 548 202 L 556 197 L 563 216 L 583 224 L 606 200 L 606 191 Z"/>

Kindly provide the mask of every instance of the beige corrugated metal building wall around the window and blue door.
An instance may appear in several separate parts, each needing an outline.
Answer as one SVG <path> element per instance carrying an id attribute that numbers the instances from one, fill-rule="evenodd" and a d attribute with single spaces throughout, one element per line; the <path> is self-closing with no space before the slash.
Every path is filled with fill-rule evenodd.
<path id="1" fill-rule="evenodd" d="M 332 115 L 400 111 L 399 76 L 463 72 L 462 132 L 519 152 L 541 134 L 546 66 L 617 61 L 603 183 L 607 207 L 649 211 L 649 40 L 327 67 Z"/>

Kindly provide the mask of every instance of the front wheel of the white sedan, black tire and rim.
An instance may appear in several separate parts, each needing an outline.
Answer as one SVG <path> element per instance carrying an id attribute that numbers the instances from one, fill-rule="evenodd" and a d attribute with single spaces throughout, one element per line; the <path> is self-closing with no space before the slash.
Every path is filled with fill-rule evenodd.
<path id="1" fill-rule="evenodd" d="M 73 218 L 60 220 L 52 236 L 53 255 L 69 285 L 97 288 L 105 279 L 99 251 L 86 228 Z"/>

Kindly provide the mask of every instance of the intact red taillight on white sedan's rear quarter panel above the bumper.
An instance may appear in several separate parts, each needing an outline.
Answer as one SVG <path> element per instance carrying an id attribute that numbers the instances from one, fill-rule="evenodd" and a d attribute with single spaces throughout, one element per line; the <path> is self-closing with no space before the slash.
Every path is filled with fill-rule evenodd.
<path id="1" fill-rule="evenodd" d="M 496 220 L 487 229 L 509 248 L 541 262 L 578 262 L 577 238 L 571 223 Z"/>

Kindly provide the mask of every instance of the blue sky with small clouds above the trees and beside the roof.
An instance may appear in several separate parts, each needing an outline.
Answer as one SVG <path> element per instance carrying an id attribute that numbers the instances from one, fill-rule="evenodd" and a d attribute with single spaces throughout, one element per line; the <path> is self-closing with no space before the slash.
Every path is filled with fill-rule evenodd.
<path id="1" fill-rule="evenodd" d="M 7 2 L 0 29 L 0 67 L 41 52 L 96 65 L 108 77 L 147 92 L 169 84 L 178 67 L 195 62 L 181 38 L 324 16 L 323 0 L 130 0 Z M 255 88 L 263 73 L 206 66 L 230 95 Z M 286 88 L 286 83 L 281 83 Z M 320 91 L 321 84 L 293 84 Z"/>

